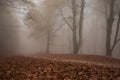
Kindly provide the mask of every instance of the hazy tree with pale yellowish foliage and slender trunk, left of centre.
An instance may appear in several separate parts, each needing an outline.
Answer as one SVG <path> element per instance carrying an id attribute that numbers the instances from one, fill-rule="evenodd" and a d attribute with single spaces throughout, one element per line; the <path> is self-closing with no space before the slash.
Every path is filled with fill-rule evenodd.
<path id="1" fill-rule="evenodd" d="M 27 20 L 32 20 L 35 22 L 33 25 L 33 33 L 41 38 L 40 33 L 43 33 L 42 36 L 46 36 L 46 53 L 50 53 L 50 45 L 53 38 L 54 33 L 59 29 L 54 29 L 57 21 L 57 13 L 56 9 L 58 7 L 60 1 L 57 0 L 45 0 L 41 5 L 43 11 L 41 12 L 40 7 L 36 7 L 31 9 L 27 16 Z"/>

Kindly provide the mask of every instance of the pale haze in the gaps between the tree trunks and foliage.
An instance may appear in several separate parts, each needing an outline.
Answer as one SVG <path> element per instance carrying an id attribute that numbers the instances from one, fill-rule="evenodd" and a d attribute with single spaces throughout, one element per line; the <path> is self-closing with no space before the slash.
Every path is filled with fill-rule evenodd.
<path id="1" fill-rule="evenodd" d="M 36 0 L 37 1 L 37 0 Z M 96 0 L 86 0 L 89 7 L 84 10 L 84 22 L 82 30 L 82 46 L 79 50 L 79 54 L 95 54 L 106 55 L 106 22 L 105 15 L 101 12 L 99 5 L 92 4 Z M 38 2 L 36 2 L 38 3 Z M 91 4 L 91 5 L 89 5 Z M 37 4 L 36 4 L 37 5 Z M 46 14 L 41 5 L 38 7 L 39 12 Z M 101 6 L 101 5 L 100 5 Z M 96 9 L 94 9 L 95 7 Z M 63 9 L 64 11 L 65 9 Z M 64 14 L 71 15 L 69 10 L 65 10 Z M 36 26 L 36 23 L 31 20 L 25 21 L 27 13 L 26 11 L 21 14 L 14 9 L 8 9 L 8 12 L 0 12 L 0 48 L 1 51 L 8 51 L 18 54 L 36 54 L 46 53 L 46 31 L 35 31 L 32 26 Z M 59 11 L 56 11 L 59 13 Z M 58 17 L 56 22 L 61 20 Z M 41 21 L 41 20 L 40 20 Z M 29 24 L 28 24 L 29 23 Z M 47 22 L 48 23 L 48 22 Z M 62 24 L 61 24 L 62 23 Z M 70 28 L 64 21 L 54 25 L 52 29 L 61 27 L 57 30 L 50 41 L 50 53 L 52 54 L 72 54 L 72 33 Z M 115 29 L 113 29 L 113 37 L 115 35 Z M 48 31 L 47 31 L 48 32 Z M 40 38 L 34 38 L 37 35 Z M 34 36 L 34 37 L 33 37 Z M 113 51 L 113 57 L 120 59 L 120 42 L 116 45 Z"/>

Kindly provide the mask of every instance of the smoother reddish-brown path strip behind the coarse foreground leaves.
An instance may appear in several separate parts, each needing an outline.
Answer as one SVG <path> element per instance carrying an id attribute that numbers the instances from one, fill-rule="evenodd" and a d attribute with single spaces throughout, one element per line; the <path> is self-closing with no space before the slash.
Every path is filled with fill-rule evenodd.
<path id="1" fill-rule="evenodd" d="M 99 66 L 120 67 L 120 60 L 107 56 L 98 55 L 74 55 L 74 54 L 48 54 L 34 56 L 35 58 L 42 58 L 47 60 L 55 60 L 62 62 L 87 63 Z"/>

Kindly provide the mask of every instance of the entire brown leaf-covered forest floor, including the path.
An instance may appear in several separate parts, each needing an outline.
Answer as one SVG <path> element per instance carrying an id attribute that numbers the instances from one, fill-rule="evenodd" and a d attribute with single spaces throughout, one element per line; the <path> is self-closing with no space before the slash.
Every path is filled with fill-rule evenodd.
<path id="1" fill-rule="evenodd" d="M 0 80 L 120 80 L 120 60 L 72 54 L 1 56 Z"/>

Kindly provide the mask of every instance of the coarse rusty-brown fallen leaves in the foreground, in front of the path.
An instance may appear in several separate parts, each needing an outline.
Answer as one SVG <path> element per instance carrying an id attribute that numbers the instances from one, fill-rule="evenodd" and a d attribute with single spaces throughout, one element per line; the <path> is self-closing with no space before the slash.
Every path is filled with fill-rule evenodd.
<path id="1" fill-rule="evenodd" d="M 120 80 L 120 68 L 29 57 L 0 57 L 0 80 Z"/>

